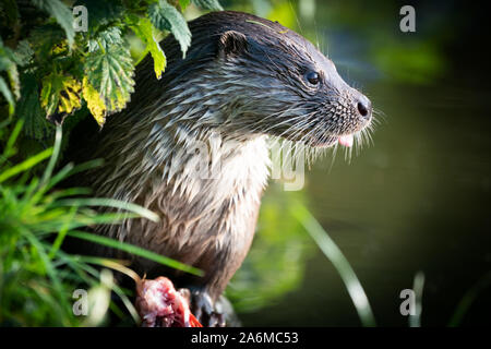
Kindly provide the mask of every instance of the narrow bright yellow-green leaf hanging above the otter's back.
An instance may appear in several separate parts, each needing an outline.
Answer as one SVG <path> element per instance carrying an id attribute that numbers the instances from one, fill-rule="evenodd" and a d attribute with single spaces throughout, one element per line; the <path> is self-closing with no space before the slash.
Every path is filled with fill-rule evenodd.
<path id="1" fill-rule="evenodd" d="M 137 21 L 132 20 L 132 24 L 130 24 L 131 29 L 136 34 L 137 37 L 142 39 L 146 45 L 146 49 L 152 55 L 154 59 L 154 71 L 157 79 L 161 77 L 161 73 L 164 73 L 167 60 L 164 51 L 158 45 L 158 41 L 155 40 L 154 36 L 154 26 L 152 25 L 148 19 L 139 19 Z"/>

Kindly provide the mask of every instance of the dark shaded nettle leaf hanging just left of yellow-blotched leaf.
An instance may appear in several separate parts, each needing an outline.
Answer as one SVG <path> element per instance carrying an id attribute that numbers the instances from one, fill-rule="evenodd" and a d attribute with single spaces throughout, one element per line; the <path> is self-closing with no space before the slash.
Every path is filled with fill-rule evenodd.
<path id="1" fill-rule="evenodd" d="M 53 128 L 46 120 L 39 104 L 39 85 L 34 74 L 23 74 L 21 81 L 21 99 L 15 115 L 24 120 L 23 131 L 26 135 L 45 140 L 52 134 Z"/>

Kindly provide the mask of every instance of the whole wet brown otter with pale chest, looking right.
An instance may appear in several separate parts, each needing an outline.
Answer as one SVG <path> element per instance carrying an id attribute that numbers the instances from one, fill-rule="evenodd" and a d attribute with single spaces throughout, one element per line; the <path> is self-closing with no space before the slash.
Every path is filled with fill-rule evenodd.
<path id="1" fill-rule="evenodd" d="M 128 107 L 89 142 L 81 134 L 71 143 L 80 154 L 105 159 L 77 183 L 161 218 L 127 219 L 95 232 L 202 269 L 204 276 L 195 277 L 132 261 L 141 275 L 165 275 L 190 289 L 200 321 L 223 324 L 214 305 L 254 236 L 268 179 L 267 139 L 351 146 L 370 124 L 372 108 L 330 59 L 277 22 L 227 11 L 200 16 L 189 27 L 185 58 L 172 36 L 165 38 L 161 79 L 147 56 L 136 68 Z M 196 143 L 214 155 L 206 161 L 214 176 L 196 174 Z"/>

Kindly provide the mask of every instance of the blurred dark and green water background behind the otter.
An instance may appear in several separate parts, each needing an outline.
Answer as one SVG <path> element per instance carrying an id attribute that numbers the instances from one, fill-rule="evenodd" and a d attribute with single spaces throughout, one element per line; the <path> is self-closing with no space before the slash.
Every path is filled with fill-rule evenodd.
<path id="1" fill-rule="evenodd" d="M 378 325 L 407 326 L 399 293 L 418 272 L 423 326 L 447 325 L 456 310 L 463 325 L 489 325 L 486 13 L 455 1 L 221 3 L 319 44 L 383 112 L 374 144 L 350 161 L 338 153 L 315 163 L 299 192 L 271 183 L 253 249 L 227 291 L 243 324 L 360 325 L 338 273 L 288 212 L 302 202 L 350 262 Z M 399 29 L 404 4 L 415 7 L 416 33 Z"/>

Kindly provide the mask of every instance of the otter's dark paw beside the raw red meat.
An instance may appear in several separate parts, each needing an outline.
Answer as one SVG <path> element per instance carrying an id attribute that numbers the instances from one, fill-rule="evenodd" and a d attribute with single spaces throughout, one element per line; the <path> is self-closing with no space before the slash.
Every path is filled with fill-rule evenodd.
<path id="1" fill-rule="evenodd" d="M 224 314 L 214 306 L 209 294 L 202 289 L 190 289 L 191 312 L 204 327 L 225 327 Z"/>

